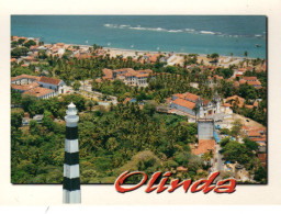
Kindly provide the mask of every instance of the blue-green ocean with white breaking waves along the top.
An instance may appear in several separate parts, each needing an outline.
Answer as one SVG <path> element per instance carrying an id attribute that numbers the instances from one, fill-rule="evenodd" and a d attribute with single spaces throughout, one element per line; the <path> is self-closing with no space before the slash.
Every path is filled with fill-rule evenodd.
<path id="1" fill-rule="evenodd" d="M 138 50 L 267 54 L 263 15 L 11 15 L 11 35 Z"/>

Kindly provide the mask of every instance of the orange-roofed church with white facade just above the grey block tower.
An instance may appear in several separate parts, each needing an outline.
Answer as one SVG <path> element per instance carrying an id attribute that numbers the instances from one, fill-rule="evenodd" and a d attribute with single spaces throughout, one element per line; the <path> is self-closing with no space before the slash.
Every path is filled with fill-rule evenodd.
<path id="1" fill-rule="evenodd" d="M 176 93 L 172 95 L 171 109 L 188 113 L 191 116 L 210 116 L 221 112 L 221 98 L 215 93 L 212 101 L 200 98 L 193 93 Z"/>

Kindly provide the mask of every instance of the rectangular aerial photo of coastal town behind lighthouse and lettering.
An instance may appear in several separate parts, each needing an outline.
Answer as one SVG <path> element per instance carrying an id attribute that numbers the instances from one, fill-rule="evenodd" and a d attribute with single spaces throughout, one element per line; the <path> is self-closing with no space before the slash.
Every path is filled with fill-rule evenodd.
<path id="1" fill-rule="evenodd" d="M 266 16 L 12 15 L 11 182 L 63 183 L 76 106 L 81 183 L 266 184 L 267 94 Z"/>

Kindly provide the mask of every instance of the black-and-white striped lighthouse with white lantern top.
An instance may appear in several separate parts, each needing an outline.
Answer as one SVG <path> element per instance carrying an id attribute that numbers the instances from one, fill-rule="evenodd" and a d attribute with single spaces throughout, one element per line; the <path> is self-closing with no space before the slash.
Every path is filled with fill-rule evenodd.
<path id="1" fill-rule="evenodd" d="M 81 203 L 79 178 L 78 121 L 76 105 L 71 102 L 66 111 L 66 140 L 63 198 L 64 203 Z"/>

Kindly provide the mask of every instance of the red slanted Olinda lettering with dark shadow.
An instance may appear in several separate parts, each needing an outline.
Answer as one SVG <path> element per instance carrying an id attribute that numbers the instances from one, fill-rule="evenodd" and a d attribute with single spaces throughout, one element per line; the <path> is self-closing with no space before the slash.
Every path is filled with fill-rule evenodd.
<path id="1" fill-rule="evenodd" d="M 157 190 L 156 191 L 157 193 L 161 193 L 165 190 L 167 190 L 168 192 L 171 193 L 180 187 L 183 188 L 184 192 L 188 192 L 190 190 L 191 193 L 195 193 L 195 192 L 200 192 L 200 191 L 202 191 L 205 194 L 211 192 L 211 191 L 213 191 L 215 193 L 233 193 L 233 192 L 235 192 L 235 187 L 236 187 L 236 180 L 235 179 L 225 179 L 225 180 L 214 182 L 215 178 L 220 174 L 218 171 L 211 173 L 207 179 L 201 179 L 201 180 L 198 180 L 198 181 L 194 181 L 194 182 L 192 182 L 190 179 L 183 180 L 182 182 L 180 182 L 179 179 L 172 179 L 170 181 L 170 183 L 167 183 L 169 177 L 171 176 L 171 172 L 168 171 L 168 172 L 165 172 L 162 174 L 162 178 L 161 178 L 160 182 L 158 184 L 155 184 L 155 181 L 158 178 L 160 178 L 161 173 L 162 172 L 157 171 L 151 176 L 151 178 L 147 182 L 147 188 L 145 189 L 146 193 L 150 193 L 154 190 Z M 127 179 L 128 177 L 134 176 L 134 174 L 143 176 L 139 183 L 134 184 L 133 187 L 132 185 L 130 185 L 130 187 L 124 185 L 125 179 Z M 142 185 L 144 185 L 145 182 L 147 181 L 147 179 L 148 179 L 148 177 L 145 172 L 142 172 L 142 171 L 133 171 L 133 172 L 124 171 L 115 180 L 115 189 L 116 189 L 117 192 L 121 192 L 121 193 L 134 191 L 134 190 L 140 188 Z"/>

